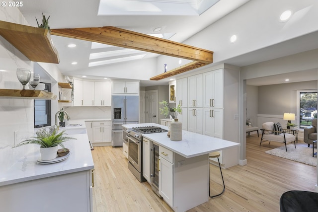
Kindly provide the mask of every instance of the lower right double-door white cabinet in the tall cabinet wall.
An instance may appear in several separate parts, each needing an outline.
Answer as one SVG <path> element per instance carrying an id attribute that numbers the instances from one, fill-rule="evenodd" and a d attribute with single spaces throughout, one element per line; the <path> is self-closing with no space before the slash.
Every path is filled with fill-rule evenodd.
<path id="1" fill-rule="evenodd" d="M 223 139 L 223 109 L 205 108 L 203 114 L 203 135 Z"/>

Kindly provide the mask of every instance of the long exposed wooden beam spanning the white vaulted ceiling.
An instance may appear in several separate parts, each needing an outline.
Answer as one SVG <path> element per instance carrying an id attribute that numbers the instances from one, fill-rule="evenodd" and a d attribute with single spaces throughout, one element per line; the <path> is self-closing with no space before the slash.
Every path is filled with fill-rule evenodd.
<path id="1" fill-rule="evenodd" d="M 112 46 L 137 49 L 160 55 L 183 58 L 203 64 L 213 63 L 212 51 L 112 26 L 51 29 L 50 33 L 51 35 L 76 38 Z"/>

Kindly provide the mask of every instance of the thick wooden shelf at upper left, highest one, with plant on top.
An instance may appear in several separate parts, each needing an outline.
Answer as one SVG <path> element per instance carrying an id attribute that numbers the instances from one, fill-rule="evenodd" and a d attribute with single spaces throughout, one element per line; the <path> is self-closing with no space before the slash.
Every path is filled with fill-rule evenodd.
<path id="1" fill-rule="evenodd" d="M 0 21 L 0 35 L 31 61 L 59 63 L 47 29 Z"/>

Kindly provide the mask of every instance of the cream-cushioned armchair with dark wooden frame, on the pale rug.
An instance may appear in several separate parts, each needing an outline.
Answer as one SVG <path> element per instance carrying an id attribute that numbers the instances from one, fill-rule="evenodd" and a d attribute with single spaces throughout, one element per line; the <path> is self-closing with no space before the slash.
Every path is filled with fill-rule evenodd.
<path id="1" fill-rule="evenodd" d="M 286 143 L 294 141 L 296 148 L 296 137 L 292 134 L 285 133 L 281 127 L 281 124 L 274 124 L 274 122 L 265 122 L 263 123 L 262 128 L 263 129 L 260 129 L 262 131 L 262 138 L 260 140 L 259 146 L 262 144 L 262 142 L 265 141 L 269 141 L 269 144 L 270 141 L 282 142 L 285 143 L 285 148 L 287 151 Z"/>

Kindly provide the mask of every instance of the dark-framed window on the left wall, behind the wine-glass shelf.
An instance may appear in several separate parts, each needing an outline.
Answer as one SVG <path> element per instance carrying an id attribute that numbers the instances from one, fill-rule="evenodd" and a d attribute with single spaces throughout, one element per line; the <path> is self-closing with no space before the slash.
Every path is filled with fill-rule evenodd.
<path id="1" fill-rule="evenodd" d="M 45 90 L 51 92 L 51 84 L 45 83 Z M 51 100 L 34 100 L 34 128 L 51 126 Z"/>

